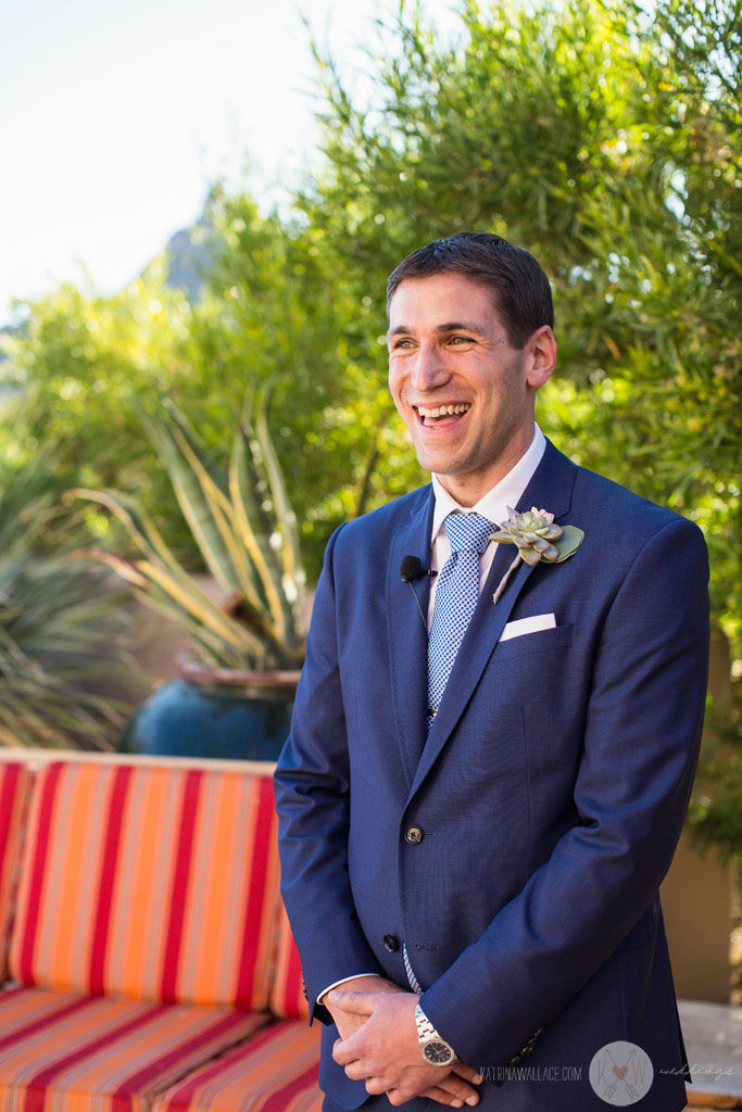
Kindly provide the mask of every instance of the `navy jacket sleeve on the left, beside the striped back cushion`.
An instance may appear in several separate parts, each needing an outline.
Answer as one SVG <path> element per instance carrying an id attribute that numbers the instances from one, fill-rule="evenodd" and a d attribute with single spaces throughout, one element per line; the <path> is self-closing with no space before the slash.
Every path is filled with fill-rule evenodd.
<path id="1" fill-rule="evenodd" d="M 274 777 L 281 894 L 310 1016 L 324 1022 L 329 1014 L 316 1000 L 327 985 L 354 974 L 384 975 L 358 923 L 348 880 L 349 762 L 334 575 L 340 529 L 327 546 L 291 732 Z"/>

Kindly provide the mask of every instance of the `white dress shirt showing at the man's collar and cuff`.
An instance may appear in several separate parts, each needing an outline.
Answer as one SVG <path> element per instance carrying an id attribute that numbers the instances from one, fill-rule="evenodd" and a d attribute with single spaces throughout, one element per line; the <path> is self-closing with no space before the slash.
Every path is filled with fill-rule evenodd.
<path id="1" fill-rule="evenodd" d="M 448 540 L 448 535 L 446 533 L 445 522 L 448 514 L 454 510 L 461 510 L 464 514 L 482 514 L 482 516 L 486 517 L 493 525 L 499 525 L 499 523 L 504 522 L 507 517 L 507 507 L 511 506 L 512 508 L 515 508 L 521 500 L 523 492 L 533 478 L 534 471 L 541 463 L 545 448 L 546 438 L 538 426 L 534 424 L 533 440 L 531 441 L 531 446 L 526 450 L 525 455 L 521 456 L 515 467 L 511 468 L 507 475 L 505 475 L 499 483 L 495 484 L 492 490 L 488 490 L 487 494 L 485 494 L 484 498 L 481 498 L 479 502 L 477 502 L 476 506 L 459 506 L 455 498 L 452 498 L 448 492 L 443 488 L 437 475 L 433 475 L 435 509 L 433 512 L 433 532 L 431 534 L 432 572 L 439 572 L 451 556 L 451 542 Z M 479 557 L 479 592 L 482 592 L 482 588 L 484 587 L 484 583 L 487 578 L 487 573 L 492 567 L 494 557 L 495 544 L 491 540 Z M 431 583 L 431 602 L 428 604 L 427 612 L 428 631 L 433 623 L 436 578 L 437 577 L 434 577 Z M 330 989 L 336 989 L 338 985 L 345 984 L 347 981 L 355 981 L 358 976 L 378 975 L 378 973 L 353 973 L 350 976 L 343 977 L 340 981 L 335 981 L 334 984 L 328 984 L 326 989 L 323 989 L 317 996 L 317 1003 L 321 1003 L 323 996 L 325 993 L 329 992 Z"/>

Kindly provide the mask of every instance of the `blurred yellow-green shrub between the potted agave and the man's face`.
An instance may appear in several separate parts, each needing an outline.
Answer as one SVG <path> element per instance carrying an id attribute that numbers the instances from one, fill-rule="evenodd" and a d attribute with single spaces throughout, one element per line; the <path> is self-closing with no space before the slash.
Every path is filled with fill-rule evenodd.
<path id="1" fill-rule="evenodd" d="M 389 487 L 377 475 L 379 453 L 403 444 L 396 423 L 389 429 L 378 317 L 306 220 L 261 217 L 249 197 L 215 189 L 209 224 L 214 267 L 194 316 L 194 375 L 221 414 L 238 411 L 246 386 L 271 384 L 271 435 L 316 577 L 333 528 L 406 488 L 404 477 Z"/>

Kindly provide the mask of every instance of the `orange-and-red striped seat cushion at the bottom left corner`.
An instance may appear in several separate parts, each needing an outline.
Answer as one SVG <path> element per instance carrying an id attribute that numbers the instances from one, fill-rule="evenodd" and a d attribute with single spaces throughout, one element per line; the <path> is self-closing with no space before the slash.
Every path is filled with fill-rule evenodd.
<path id="1" fill-rule="evenodd" d="M 267 1016 L 42 989 L 0 993 L 1 1112 L 148 1112 Z"/>

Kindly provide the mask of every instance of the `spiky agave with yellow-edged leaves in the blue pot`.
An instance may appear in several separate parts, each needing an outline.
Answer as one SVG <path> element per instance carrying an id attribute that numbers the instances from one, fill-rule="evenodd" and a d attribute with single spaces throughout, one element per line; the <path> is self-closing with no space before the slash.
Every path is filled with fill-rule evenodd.
<path id="1" fill-rule="evenodd" d="M 204 657 L 230 669 L 295 669 L 304 659 L 305 574 L 298 529 L 267 425 L 247 411 L 228 469 L 219 468 L 171 403 L 146 420 L 194 540 L 221 593 L 215 600 L 136 500 L 113 490 L 73 492 L 109 509 L 140 556 L 96 550 L 144 602 L 189 632 Z"/>

